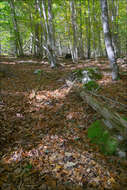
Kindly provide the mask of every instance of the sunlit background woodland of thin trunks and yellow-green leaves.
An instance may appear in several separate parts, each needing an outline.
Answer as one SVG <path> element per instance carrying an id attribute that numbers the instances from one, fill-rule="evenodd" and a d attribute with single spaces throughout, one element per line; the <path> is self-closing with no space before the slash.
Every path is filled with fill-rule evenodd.
<path id="1" fill-rule="evenodd" d="M 112 44 L 117 56 L 127 53 L 127 2 L 108 0 Z M 100 1 L 2 0 L 0 53 L 47 55 L 47 44 L 57 56 L 105 56 Z"/>

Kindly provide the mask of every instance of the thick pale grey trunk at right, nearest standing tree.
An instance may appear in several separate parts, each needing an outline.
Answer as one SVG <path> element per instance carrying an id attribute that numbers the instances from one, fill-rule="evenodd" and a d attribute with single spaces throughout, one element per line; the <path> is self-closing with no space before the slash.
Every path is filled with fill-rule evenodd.
<path id="1" fill-rule="evenodd" d="M 119 68 L 116 63 L 115 53 L 112 46 L 112 38 L 110 34 L 109 21 L 108 21 L 107 0 L 100 0 L 100 3 L 101 3 L 102 25 L 103 25 L 103 32 L 104 32 L 104 38 L 105 38 L 105 46 L 106 46 L 106 51 L 107 51 L 108 59 L 110 62 L 110 66 L 112 69 L 112 80 L 117 80 L 119 76 L 119 72 L 118 72 Z"/>

